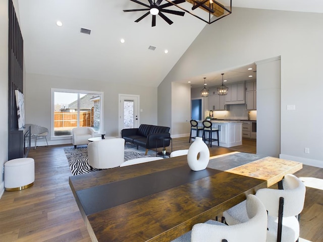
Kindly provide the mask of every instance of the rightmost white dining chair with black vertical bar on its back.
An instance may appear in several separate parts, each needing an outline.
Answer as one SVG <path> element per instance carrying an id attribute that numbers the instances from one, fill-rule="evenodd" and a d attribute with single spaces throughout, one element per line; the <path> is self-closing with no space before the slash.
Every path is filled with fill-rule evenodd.
<path id="1" fill-rule="evenodd" d="M 268 211 L 267 242 L 295 242 L 299 237 L 298 215 L 303 210 L 305 185 L 295 175 L 287 174 L 283 179 L 284 190 L 259 189 L 257 198 Z M 246 220 L 245 202 L 224 212 L 228 224 Z M 281 236 L 280 236 L 281 234 Z"/>

